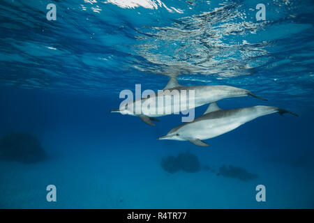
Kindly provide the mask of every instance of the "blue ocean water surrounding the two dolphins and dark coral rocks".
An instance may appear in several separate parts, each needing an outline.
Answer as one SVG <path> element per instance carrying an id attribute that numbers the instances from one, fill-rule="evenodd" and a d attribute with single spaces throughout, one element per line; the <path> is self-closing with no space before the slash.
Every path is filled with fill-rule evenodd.
<path id="1" fill-rule="evenodd" d="M 33 134 L 47 159 L 0 160 L 0 208 L 314 208 L 313 14 L 311 0 L 2 0 L 0 138 Z M 270 105 L 299 117 L 262 116 L 203 148 L 156 139 L 181 115 L 152 127 L 109 112 L 122 90 L 157 91 L 172 75 L 268 99 L 220 100 L 223 109 Z M 212 171 L 171 174 L 160 165 L 186 151 Z M 223 176 L 223 165 L 258 177 Z M 47 202 L 47 185 L 57 202 Z"/>

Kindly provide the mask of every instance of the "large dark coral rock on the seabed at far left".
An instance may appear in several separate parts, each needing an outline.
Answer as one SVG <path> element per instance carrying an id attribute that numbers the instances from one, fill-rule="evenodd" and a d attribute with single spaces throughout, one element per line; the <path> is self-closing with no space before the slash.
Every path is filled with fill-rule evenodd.
<path id="1" fill-rule="evenodd" d="M 44 160 L 45 157 L 40 142 L 29 133 L 10 133 L 0 139 L 0 158 L 3 160 L 33 163 Z"/>

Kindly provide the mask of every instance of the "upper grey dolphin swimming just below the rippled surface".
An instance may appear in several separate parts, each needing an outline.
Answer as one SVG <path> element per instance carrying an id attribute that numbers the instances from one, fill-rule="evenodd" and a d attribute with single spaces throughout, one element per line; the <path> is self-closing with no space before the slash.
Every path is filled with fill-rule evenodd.
<path id="1" fill-rule="evenodd" d="M 171 101 L 170 105 L 165 105 L 164 103 L 158 103 L 159 99 L 161 99 L 163 102 L 165 101 L 165 95 L 158 93 L 154 95 L 154 97 L 147 98 L 141 98 L 137 100 L 133 100 L 133 102 L 128 102 L 128 105 L 124 107 L 120 107 L 119 109 L 112 109 L 110 112 L 118 112 L 121 114 L 129 114 L 131 116 L 140 116 L 142 121 L 144 123 L 147 123 L 149 125 L 155 125 L 152 121 L 158 121 L 155 117 L 158 116 L 165 116 L 167 114 L 174 114 L 174 107 L 177 107 L 177 112 L 184 112 L 188 109 L 184 109 L 184 107 L 181 107 L 183 103 L 186 102 L 186 104 L 189 106 L 189 109 L 194 109 L 195 107 L 200 107 L 202 105 L 206 105 L 212 102 L 216 102 L 218 100 L 224 99 L 224 98 L 234 98 L 234 97 L 243 97 L 247 95 L 251 95 L 255 98 L 259 98 L 262 100 L 267 100 L 265 98 L 261 98 L 253 93 L 251 91 L 248 91 L 246 89 L 239 89 L 233 86 L 225 86 L 225 85 L 203 85 L 203 86 L 181 86 L 177 82 L 177 77 L 171 77 L 170 81 L 168 82 L 167 86 L 165 86 L 165 89 L 163 89 L 162 92 L 165 92 L 165 90 L 169 90 L 170 92 L 177 91 L 178 93 L 181 93 L 182 91 L 190 92 L 190 90 L 194 91 L 194 103 L 190 103 L 189 101 L 186 102 L 186 99 L 179 97 L 179 100 L 175 102 L 174 100 Z M 162 98 L 160 98 L 162 97 Z M 146 112 L 143 111 L 141 105 L 143 105 L 144 102 L 153 102 L 155 107 L 154 111 L 155 113 Z M 140 103 L 137 103 L 140 102 Z M 170 109 L 168 113 L 160 113 L 158 111 L 165 111 L 166 109 Z M 138 113 L 135 113 L 135 111 L 140 111 Z"/>

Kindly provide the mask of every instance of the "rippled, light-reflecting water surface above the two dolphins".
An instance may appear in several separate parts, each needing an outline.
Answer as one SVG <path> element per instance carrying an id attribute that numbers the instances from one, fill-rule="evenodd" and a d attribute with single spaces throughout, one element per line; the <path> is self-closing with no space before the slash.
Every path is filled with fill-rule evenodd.
<path id="1" fill-rule="evenodd" d="M 267 1 L 259 22 L 259 1 L 136 2 L 56 1 L 48 22 L 47 1 L 3 1 L 1 86 L 101 94 L 179 74 L 313 102 L 311 1 Z"/>

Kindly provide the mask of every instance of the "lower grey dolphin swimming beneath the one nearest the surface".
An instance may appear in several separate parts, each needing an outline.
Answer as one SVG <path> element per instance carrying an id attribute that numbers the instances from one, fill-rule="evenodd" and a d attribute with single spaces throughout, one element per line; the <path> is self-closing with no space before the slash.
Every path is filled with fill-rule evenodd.
<path id="1" fill-rule="evenodd" d="M 195 118 L 190 123 L 184 123 L 176 128 L 172 128 L 165 136 L 158 137 L 158 139 L 190 141 L 197 146 L 209 146 L 202 140 L 217 137 L 255 118 L 276 112 L 281 115 L 290 113 L 298 116 L 293 112 L 278 107 L 262 105 L 222 110 L 214 102 L 209 105 L 202 116 Z"/>

